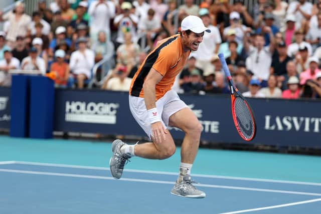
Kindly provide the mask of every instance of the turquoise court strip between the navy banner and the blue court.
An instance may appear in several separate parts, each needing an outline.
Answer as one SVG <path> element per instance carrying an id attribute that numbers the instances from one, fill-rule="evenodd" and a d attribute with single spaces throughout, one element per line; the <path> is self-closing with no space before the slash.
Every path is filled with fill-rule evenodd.
<path id="1" fill-rule="evenodd" d="M 0 136 L 0 161 L 30 161 L 108 167 L 111 142 L 38 140 Z M 321 157 L 200 149 L 192 174 L 321 182 Z M 125 169 L 178 172 L 180 148 L 166 160 L 133 157 Z"/>

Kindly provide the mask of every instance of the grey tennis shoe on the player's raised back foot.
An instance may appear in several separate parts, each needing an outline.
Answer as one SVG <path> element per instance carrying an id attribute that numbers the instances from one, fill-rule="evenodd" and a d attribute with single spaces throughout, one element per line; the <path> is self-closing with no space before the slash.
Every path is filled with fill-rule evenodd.
<path id="1" fill-rule="evenodd" d="M 109 167 L 112 176 L 116 179 L 119 179 L 122 175 L 122 171 L 124 169 L 124 165 L 129 161 L 129 155 L 126 153 L 120 152 L 120 147 L 125 145 L 126 143 L 121 140 L 114 140 L 111 145 L 111 150 L 113 152 L 112 157 L 109 160 Z"/>

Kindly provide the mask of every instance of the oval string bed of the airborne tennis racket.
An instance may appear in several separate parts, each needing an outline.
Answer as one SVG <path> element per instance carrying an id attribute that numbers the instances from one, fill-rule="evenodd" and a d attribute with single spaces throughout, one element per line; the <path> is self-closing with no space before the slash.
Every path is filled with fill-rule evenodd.
<path id="1" fill-rule="evenodd" d="M 234 102 L 234 112 L 238 123 L 239 132 L 246 138 L 251 139 L 254 134 L 254 121 L 245 101 L 237 97 Z"/>

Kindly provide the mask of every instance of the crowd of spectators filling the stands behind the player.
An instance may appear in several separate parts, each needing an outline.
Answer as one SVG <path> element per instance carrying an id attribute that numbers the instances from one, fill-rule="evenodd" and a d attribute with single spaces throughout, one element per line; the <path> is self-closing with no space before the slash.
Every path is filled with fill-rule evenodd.
<path id="1" fill-rule="evenodd" d="M 177 77 L 173 89 L 179 93 L 229 93 L 217 56 L 223 53 L 246 97 L 321 96 L 321 0 L 258 0 L 252 11 L 242 0 L 39 0 L 32 16 L 24 7 L 17 3 L 0 12 L 0 86 L 10 86 L 9 70 L 23 69 L 56 72 L 56 87 L 81 89 L 93 78 L 95 63 L 110 55 L 98 68 L 108 74 L 95 87 L 128 91 L 157 41 L 195 15 L 211 33 Z"/>

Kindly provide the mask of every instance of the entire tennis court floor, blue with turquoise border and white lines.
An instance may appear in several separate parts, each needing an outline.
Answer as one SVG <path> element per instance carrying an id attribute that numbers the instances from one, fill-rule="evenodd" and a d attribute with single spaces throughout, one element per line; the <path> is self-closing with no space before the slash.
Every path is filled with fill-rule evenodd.
<path id="1" fill-rule="evenodd" d="M 114 180 L 110 146 L 0 137 L 0 213 L 319 213 L 321 207 L 320 157 L 200 149 L 192 174 L 207 196 L 190 199 L 170 194 L 179 149 L 164 161 L 132 158 Z"/>

